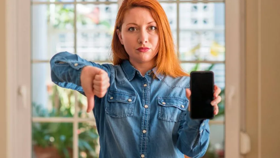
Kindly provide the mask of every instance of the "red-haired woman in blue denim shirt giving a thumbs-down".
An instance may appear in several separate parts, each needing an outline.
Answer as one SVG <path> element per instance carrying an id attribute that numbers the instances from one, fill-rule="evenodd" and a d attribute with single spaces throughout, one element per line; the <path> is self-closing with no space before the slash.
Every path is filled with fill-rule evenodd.
<path id="1" fill-rule="evenodd" d="M 68 52 L 51 59 L 55 84 L 87 96 L 100 136 L 101 158 L 202 157 L 209 120 L 191 120 L 190 78 L 180 67 L 157 0 L 124 0 L 112 39 L 112 64 Z M 220 88 L 215 86 L 214 114 Z"/>

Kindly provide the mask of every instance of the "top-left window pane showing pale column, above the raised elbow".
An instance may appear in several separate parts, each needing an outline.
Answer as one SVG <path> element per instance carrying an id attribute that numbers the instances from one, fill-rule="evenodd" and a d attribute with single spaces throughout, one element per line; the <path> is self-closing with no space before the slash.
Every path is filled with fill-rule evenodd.
<path id="1" fill-rule="evenodd" d="M 32 59 L 74 53 L 74 5 L 32 5 Z"/>

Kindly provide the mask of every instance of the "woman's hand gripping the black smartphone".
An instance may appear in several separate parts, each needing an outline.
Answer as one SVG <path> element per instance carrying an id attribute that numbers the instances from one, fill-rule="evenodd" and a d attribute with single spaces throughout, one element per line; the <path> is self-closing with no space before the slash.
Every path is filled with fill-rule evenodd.
<path id="1" fill-rule="evenodd" d="M 221 88 L 214 85 L 214 100 L 211 102 L 211 105 L 214 106 L 214 115 L 217 115 L 218 112 L 219 112 L 218 104 L 222 100 L 221 96 L 219 96 L 220 93 L 221 93 Z M 186 89 L 186 97 L 188 98 L 188 100 L 190 100 L 191 90 L 188 89 L 188 88 Z M 189 111 L 190 111 L 190 106 L 191 106 L 191 104 L 188 105 L 188 110 Z"/>

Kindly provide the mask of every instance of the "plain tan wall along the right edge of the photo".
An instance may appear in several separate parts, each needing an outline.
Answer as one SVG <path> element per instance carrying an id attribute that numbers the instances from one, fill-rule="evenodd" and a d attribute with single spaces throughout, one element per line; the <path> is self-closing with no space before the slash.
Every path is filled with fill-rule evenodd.
<path id="1" fill-rule="evenodd" d="M 247 0 L 246 158 L 280 157 L 280 1 Z"/>

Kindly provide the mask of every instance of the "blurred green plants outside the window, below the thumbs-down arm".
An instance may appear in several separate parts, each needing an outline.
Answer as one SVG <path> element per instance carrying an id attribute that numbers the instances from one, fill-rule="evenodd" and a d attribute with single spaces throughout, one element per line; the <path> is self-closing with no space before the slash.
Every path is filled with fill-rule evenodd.
<path id="1" fill-rule="evenodd" d="M 52 108 L 48 110 L 36 103 L 32 104 L 33 117 L 73 117 L 75 106 L 75 92 L 73 90 L 60 88 L 57 85 L 51 86 L 50 100 L 52 101 Z M 78 117 L 89 117 L 87 113 L 83 112 L 83 96 L 78 94 L 77 100 Z M 85 116 L 83 116 L 85 115 Z M 89 122 L 79 123 L 78 126 L 78 147 L 80 158 L 83 155 L 95 158 L 95 149 L 98 142 L 98 133 L 96 127 Z M 60 157 L 70 158 L 73 148 L 73 124 L 72 123 L 38 123 L 32 124 L 33 146 L 36 147 L 54 147 L 57 149 Z"/>

